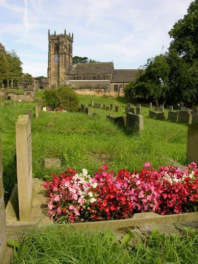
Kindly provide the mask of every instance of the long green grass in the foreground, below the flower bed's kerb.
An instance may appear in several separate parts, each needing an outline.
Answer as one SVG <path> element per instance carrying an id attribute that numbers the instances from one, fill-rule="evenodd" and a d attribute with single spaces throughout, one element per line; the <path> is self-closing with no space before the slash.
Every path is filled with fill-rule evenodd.
<path id="1" fill-rule="evenodd" d="M 109 231 L 76 232 L 55 224 L 24 236 L 11 263 L 196 264 L 198 233 L 186 229 L 180 236 L 166 236 L 154 230 L 146 241 L 122 246 Z"/>

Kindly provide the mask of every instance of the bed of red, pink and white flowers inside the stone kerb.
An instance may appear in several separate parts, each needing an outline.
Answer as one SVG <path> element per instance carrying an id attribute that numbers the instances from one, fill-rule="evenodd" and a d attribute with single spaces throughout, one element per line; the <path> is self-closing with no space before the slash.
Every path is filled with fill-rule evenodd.
<path id="1" fill-rule="evenodd" d="M 79 222 L 130 218 L 134 213 L 159 214 L 197 210 L 198 169 L 192 162 L 184 171 L 174 166 L 145 168 L 115 176 L 103 165 L 91 177 L 87 169 L 67 169 L 44 183 L 49 192 L 48 215 L 56 220 Z"/>

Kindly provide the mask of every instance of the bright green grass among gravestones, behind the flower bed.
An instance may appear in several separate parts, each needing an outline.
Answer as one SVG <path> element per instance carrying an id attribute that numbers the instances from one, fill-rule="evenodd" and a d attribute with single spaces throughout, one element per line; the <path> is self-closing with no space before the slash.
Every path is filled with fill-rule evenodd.
<path id="1" fill-rule="evenodd" d="M 41 95 L 41 93 L 40 93 Z M 125 115 L 122 99 L 80 96 L 80 103 L 91 102 L 120 106 L 115 115 Z M 0 135 L 2 138 L 3 183 L 7 192 L 5 201 L 16 182 L 15 123 L 19 114 L 26 114 L 35 103 L 0 105 Z M 148 107 L 142 106 L 145 129 L 133 135 L 106 120 L 109 111 L 92 108 L 96 117 L 83 113 L 45 113 L 32 121 L 33 176 L 46 180 L 52 172 L 67 167 L 80 171 L 87 168 L 93 174 L 107 163 L 115 172 L 125 167 L 140 170 L 145 161 L 155 168 L 166 165 L 165 157 L 186 163 L 187 130 L 185 124 L 148 118 Z M 167 113 L 166 113 L 167 116 Z M 45 169 L 44 158 L 60 158 L 61 168 Z"/>

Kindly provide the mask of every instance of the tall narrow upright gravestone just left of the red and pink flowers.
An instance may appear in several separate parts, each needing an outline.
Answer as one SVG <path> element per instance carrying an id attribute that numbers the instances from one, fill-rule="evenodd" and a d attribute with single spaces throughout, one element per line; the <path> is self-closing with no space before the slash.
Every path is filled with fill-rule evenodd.
<path id="1" fill-rule="evenodd" d="M 20 221 L 30 220 L 32 209 L 32 134 L 29 115 L 16 123 L 16 161 Z"/>

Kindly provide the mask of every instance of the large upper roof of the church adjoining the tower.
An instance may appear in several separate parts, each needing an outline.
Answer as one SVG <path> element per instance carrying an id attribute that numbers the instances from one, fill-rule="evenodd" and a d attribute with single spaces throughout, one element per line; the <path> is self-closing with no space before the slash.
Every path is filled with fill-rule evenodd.
<path id="1" fill-rule="evenodd" d="M 77 63 L 69 64 L 66 75 L 75 74 L 109 74 L 112 72 L 113 62 Z"/>

